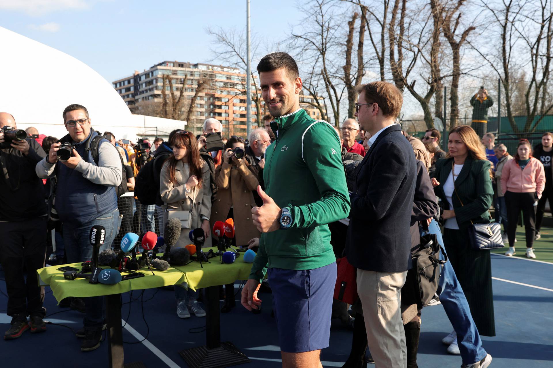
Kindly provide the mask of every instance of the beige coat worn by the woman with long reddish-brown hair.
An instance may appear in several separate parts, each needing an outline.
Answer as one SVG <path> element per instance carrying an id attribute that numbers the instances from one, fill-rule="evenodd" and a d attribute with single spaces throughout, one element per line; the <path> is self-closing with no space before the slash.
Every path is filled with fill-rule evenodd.
<path id="1" fill-rule="evenodd" d="M 190 177 L 190 169 L 188 164 L 179 161 L 175 167 L 176 183 L 172 183 L 169 177 L 169 162 L 163 164 L 161 168 L 159 194 L 165 202 L 164 209 L 190 211 L 192 207 L 192 228 L 201 226 L 202 219 L 210 219 L 211 216 L 211 188 L 210 188 L 210 171 L 204 160 L 200 160 L 202 164 L 202 187 L 195 186 L 189 192 L 186 191 L 185 183 Z M 167 221 L 167 213 L 164 214 L 164 221 Z M 188 233 L 191 229 L 182 229 L 179 241 L 176 247 L 184 247 L 190 244 Z M 211 237 L 206 238 L 205 247 L 211 247 Z"/>

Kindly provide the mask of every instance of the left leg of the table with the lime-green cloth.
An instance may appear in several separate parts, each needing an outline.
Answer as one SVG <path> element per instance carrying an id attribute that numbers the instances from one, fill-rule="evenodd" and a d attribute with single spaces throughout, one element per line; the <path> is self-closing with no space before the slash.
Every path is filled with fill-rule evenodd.
<path id="1" fill-rule="evenodd" d="M 121 326 L 121 294 L 106 296 L 107 354 L 110 368 L 123 368 L 123 327 Z"/>

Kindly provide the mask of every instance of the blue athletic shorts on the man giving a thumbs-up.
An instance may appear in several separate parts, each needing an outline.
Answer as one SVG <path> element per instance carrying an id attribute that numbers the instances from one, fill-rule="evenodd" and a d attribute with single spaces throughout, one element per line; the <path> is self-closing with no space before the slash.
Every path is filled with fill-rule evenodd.
<path id="1" fill-rule="evenodd" d="M 270 268 L 280 350 L 303 353 L 328 347 L 336 262 L 312 270 Z"/>

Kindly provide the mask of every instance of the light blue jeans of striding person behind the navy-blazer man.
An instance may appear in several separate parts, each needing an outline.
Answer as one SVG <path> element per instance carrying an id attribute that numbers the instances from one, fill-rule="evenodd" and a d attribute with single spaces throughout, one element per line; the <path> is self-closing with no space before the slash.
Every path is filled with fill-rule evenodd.
<path id="1" fill-rule="evenodd" d="M 442 249 L 445 249 L 440 227 L 435 220 L 430 223 L 429 230 L 431 234 L 436 234 L 438 243 Z M 442 260 L 445 259 L 444 252 L 440 252 L 440 259 Z M 473 364 L 486 358 L 487 353 L 482 348 L 482 340 L 472 319 L 467 298 L 449 262 L 446 262 L 442 267 L 437 294 L 440 296 L 447 318 L 449 318 L 453 329 L 457 333 L 457 344 L 463 364 Z"/>

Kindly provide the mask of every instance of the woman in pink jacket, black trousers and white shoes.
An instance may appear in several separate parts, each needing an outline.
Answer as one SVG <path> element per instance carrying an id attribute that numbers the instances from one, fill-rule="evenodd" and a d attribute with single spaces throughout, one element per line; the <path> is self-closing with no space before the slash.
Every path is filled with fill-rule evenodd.
<path id="1" fill-rule="evenodd" d="M 528 140 L 520 140 L 517 156 L 510 159 L 503 167 L 501 190 L 507 204 L 507 237 L 509 250 L 505 255 L 515 253 L 514 241 L 520 211 L 524 216 L 526 230 L 526 257 L 536 258 L 534 254 L 534 236 L 536 233 L 535 206 L 545 186 L 544 166 L 539 159 L 532 157 L 532 146 Z"/>

